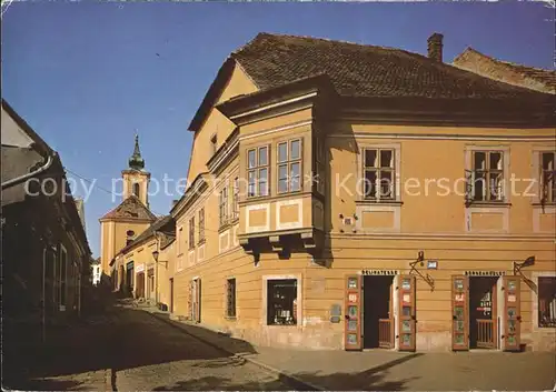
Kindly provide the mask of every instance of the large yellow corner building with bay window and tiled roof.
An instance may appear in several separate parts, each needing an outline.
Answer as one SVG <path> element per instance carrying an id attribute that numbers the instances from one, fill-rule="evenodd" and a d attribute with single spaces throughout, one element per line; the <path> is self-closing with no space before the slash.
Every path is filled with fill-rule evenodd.
<path id="1" fill-rule="evenodd" d="M 441 51 L 231 53 L 189 127 L 173 313 L 262 345 L 555 350 L 554 97 Z"/>

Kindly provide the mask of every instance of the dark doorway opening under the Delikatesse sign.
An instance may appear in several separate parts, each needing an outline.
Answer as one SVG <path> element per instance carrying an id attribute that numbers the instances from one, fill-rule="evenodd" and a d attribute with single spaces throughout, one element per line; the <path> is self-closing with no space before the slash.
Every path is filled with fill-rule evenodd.
<path id="1" fill-rule="evenodd" d="M 367 275 L 363 284 L 363 348 L 394 348 L 393 275 Z"/>

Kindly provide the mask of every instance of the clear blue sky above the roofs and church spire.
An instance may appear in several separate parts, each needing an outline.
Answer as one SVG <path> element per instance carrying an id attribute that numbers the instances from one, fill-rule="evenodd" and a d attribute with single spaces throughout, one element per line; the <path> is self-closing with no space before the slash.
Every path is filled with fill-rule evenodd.
<path id="1" fill-rule="evenodd" d="M 153 179 L 185 178 L 191 118 L 229 53 L 258 32 L 426 54 L 436 31 L 446 62 L 471 46 L 552 69 L 554 11 L 543 2 L 14 1 L 2 6 L 2 98 L 60 153 L 76 195 L 86 195 L 80 178 L 96 181 L 85 210 L 98 257 L 98 220 L 121 202 L 110 190 L 135 133 Z M 158 192 L 150 208 L 166 214 L 179 197 Z"/>

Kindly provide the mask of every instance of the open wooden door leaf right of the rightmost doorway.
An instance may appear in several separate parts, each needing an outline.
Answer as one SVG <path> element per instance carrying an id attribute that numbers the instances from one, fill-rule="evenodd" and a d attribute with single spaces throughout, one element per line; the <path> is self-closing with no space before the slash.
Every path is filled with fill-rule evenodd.
<path id="1" fill-rule="evenodd" d="M 504 351 L 520 351 L 520 288 L 519 277 L 503 277 L 504 290 L 504 331 L 502 344 Z"/>

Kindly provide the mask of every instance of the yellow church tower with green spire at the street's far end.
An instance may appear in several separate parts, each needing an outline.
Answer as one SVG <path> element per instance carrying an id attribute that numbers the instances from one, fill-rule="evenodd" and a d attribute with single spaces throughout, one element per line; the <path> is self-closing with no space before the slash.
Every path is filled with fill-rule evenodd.
<path id="1" fill-rule="evenodd" d="M 157 217 L 149 210 L 150 173 L 145 170 L 145 160 L 136 134 L 133 153 L 128 168 L 121 171 L 123 179 L 122 202 L 100 218 L 100 268 L 110 277 L 111 261 L 130 241 L 143 232 Z"/>

